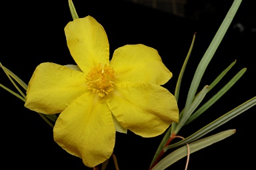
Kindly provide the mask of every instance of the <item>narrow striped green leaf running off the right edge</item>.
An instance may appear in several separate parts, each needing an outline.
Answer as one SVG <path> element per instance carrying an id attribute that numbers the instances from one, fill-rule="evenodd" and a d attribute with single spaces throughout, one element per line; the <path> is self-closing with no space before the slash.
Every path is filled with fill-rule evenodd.
<path id="1" fill-rule="evenodd" d="M 179 147 L 181 145 L 185 145 L 186 143 L 190 143 L 191 141 L 195 141 L 195 140 L 199 139 L 203 135 L 209 133 L 210 131 L 213 131 L 214 129 L 216 129 L 219 126 L 225 124 L 229 120 L 235 118 L 239 114 L 245 112 L 249 108 L 255 106 L 255 104 L 256 104 L 256 97 L 251 98 L 247 102 L 241 104 L 240 106 L 237 106 L 237 108 L 231 110 L 230 112 L 227 112 L 227 114 L 224 114 L 223 116 L 221 116 L 217 120 L 211 122 L 207 126 L 199 129 L 199 131 L 193 133 L 189 137 L 186 137 L 182 141 L 179 141 L 177 143 L 173 143 L 172 145 L 169 145 L 169 146 L 165 147 L 164 151 L 167 151 L 167 149 L 171 149 L 171 148 L 174 148 L 174 147 Z"/>

